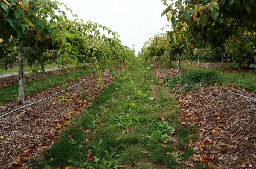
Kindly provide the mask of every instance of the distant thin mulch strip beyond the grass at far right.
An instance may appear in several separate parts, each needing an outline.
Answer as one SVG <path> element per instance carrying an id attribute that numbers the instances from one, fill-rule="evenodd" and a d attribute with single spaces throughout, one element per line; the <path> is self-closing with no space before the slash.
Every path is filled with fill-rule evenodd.
<path id="1" fill-rule="evenodd" d="M 199 66 L 199 63 L 194 62 L 181 62 L 181 64 L 188 64 L 192 66 Z M 244 72 L 249 73 L 251 70 L 246 69 L 245 67 L 230 66 L 230 65 L 221 65 L 221 64 L 211 64 L 211 63 L 200 63 L 200 67 L 209 67 L 217 68 L 227 72 Z"/>

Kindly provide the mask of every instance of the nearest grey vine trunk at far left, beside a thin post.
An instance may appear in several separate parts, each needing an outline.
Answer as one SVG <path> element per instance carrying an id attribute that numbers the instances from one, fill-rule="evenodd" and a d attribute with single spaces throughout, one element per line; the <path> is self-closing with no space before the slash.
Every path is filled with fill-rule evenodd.
<path id="1" fill-rule="evenodd" d="M 18 104 L 24 104 L 23 41 L 19 42 L 19 96 Z"/>

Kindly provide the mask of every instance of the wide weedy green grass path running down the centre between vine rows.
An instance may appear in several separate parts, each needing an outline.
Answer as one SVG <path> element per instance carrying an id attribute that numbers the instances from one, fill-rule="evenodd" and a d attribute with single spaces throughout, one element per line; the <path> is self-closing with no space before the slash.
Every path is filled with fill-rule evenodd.
<path id="1" fill-rule="evenodd" d="M 71 126 L 44 152 L 47 157 L 30 161 L 40 163 L 32 168 L 182 168 L 172 153 L 197 137 L 179 124 L 176 99 L 158 86 L 153 74 L 141 87 L 147 66 L 134 63 L 116 78 L 72 119 Z M 182 152 L 179 158 L 184 160 L 193 154 L 191 149 Z"/>

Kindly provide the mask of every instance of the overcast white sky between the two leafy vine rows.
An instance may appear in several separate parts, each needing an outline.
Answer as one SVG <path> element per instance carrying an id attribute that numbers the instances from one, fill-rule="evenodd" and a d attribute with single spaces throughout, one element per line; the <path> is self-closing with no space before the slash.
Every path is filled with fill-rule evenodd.
<path id="1" fill-rule="evenodd" d="M 105 25 L 118 32 L 123 45 L 135 45 L 136 54 L 145 41 L 169 24 L 161 17 L 166 8 L 161 0 L 59 0 L 78 18 Z M 67 15 L 71 15 L 67 12 Z M 168 29 L 168 28 L 167 28 Z M 169 28 L 170 29 L 170 28 Z M 164 32 L 164 31 L 160 31 Z"/>

